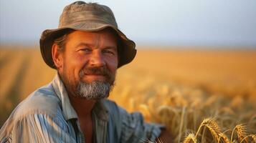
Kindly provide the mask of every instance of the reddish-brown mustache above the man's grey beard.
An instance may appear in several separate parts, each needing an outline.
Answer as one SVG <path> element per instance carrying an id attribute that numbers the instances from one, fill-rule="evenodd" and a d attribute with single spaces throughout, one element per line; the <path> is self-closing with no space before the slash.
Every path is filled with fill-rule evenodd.
<path id="1" fill-rule="evenodd" d="M 111 71 L 105 67 L 85 67 L 80 71 L 80 78 L 84 77 L 86 74 L 98 74 L 106 77 L 107 79 L 111 79 L 113 77 Z"/>

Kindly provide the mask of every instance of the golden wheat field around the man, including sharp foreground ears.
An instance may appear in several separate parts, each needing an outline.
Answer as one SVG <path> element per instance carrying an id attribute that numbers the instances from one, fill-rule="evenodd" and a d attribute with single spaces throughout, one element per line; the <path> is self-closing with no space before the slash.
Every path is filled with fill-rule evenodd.
<path id="1" fill-rule="evenodd" d="M 38 47 L 13 47 L 0 49 L 0 125 L 56 74 Z M 256 142 L 255 73 L 256 50 L 138 48 L 109 98 L 164 124 L 174 142 Z"/>

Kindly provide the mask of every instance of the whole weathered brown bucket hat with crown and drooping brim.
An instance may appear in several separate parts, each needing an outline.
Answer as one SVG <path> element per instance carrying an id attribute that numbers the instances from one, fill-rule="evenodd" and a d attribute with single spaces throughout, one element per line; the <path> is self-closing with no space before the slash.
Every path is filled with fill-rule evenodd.
<path id="1" fill-rule="evenodd" d="M 47 29 L 42 32 L 40 39 L 41 54 L 46 64 L 56 69 L 52 60 L 52 44 L 55 39 L 65 34 L 68 29 L 80 31 L 100 31 L 111 28 L 120 37 L 118 46 L 118 67 L 131 62 L 136 56 L 135 43 L 128 39 L 122 31 L 118 29 L 115 16 L 108 6 L 76 1 L 65 6 L 57 29 Z"/>

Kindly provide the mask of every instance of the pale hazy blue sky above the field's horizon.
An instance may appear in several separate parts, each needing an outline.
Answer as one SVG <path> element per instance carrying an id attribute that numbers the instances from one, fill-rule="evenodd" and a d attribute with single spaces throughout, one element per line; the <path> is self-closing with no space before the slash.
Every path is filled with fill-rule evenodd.
<path id="1" fill-rule="evenodd" d="M 0 0 L 0 43 L 39 44 L 56 29 L 67 0 Z M 256 49 L 255 0 L 91 0 L 110 7 L 137 45 Z"/>

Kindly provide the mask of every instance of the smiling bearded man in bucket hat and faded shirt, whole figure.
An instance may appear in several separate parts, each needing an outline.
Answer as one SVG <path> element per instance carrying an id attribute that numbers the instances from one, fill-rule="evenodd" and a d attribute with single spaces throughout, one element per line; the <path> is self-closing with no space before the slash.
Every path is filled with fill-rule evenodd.
<path id="1" fill-rule="evenodd" d="M 136 55 L 107 6 L 66 6 L 59 28 L 42 33 L 40 49 L 57 75 L 14 109 L 1 128 L 1 142 L 169 142 L 161 125 L 106 99 L 116 70 Z"/>

